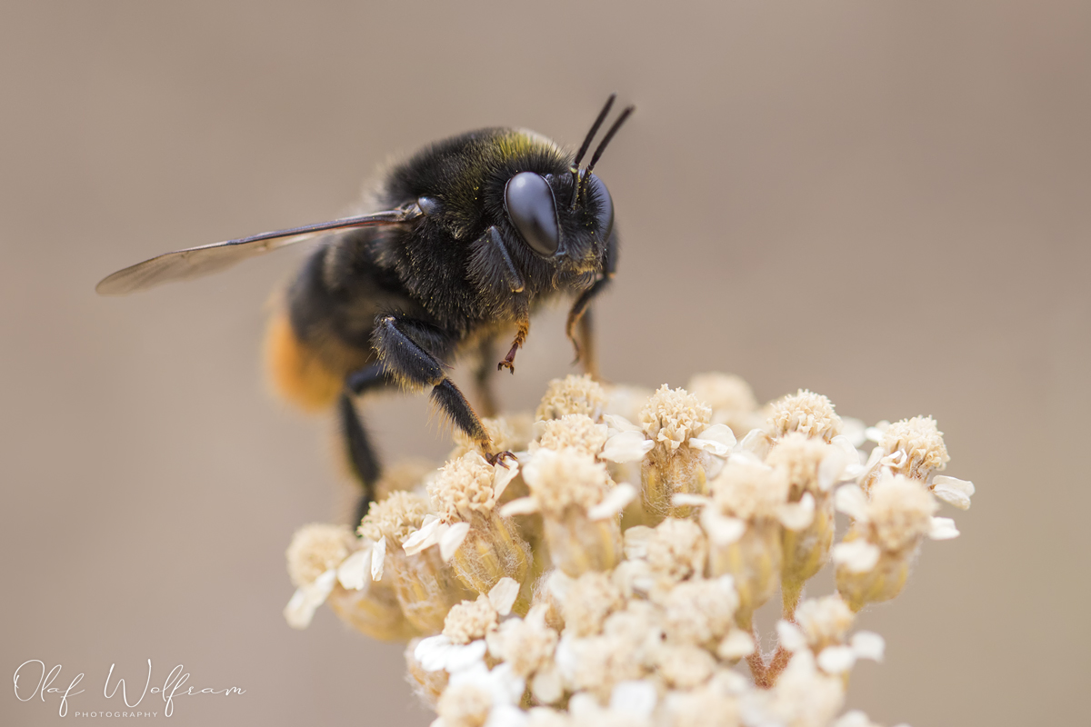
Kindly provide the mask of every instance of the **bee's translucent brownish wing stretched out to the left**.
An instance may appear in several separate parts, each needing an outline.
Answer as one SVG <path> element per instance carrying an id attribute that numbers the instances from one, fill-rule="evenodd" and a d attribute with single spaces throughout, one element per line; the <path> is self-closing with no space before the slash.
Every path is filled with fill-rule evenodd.
<path id="1" fill-rule="evenodd" d="M 152 259 L 131 265 L 123 270 L 103 278 L 95 286 L 99 295 L 124 295 L 146 290 L 171 280 L 189 280 L 218 272 L 249 257 L 264 255 L 279 247 L 293 245 L 331 230 L 349 230 L 380 225 L 399 225 L 421 215 L 416 204 L 400 209 L 369 213 L 356 217 L 345 217 L 329 222 L 307 225 L 290 230 L 262 232 L 240 240 L 215 242 L 211 245 L 178 250 Z"/>

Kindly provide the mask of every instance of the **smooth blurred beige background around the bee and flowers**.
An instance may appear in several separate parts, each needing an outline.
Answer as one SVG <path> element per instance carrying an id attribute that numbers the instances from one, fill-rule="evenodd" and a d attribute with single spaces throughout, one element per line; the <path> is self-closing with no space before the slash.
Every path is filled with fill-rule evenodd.
<path id="1" fill-rule="evenodd" d="M 887 659 L 850 705 L 916 727 L 1086 714 L 1091 5 L 459 5 L 0 7 L 7 674 L 60 664 L 55 686 L 86 674 L 70 710 L 115 710 L 109 665 L 142 682 L 151 658 L 153 684 L 182 664 L 247 689 L 171 724 L 427 725 L 398 646 L 280 615 L 291 533 L 347 513 L 328 423 L 262 377 L 299 254 L 93 288 L 335 217 L 388 155 L 455 132 L 576 145 L 616 89 L 639 108 L 599 167 L 624 234 L 607 375 L 721 369 L 868 422 L 933 414 L 948 474 L 978 485 L 962 537 L 863 617 Z M 561 316 L 536 320 L 500 395 L 531 405 L 570 355 Z M 422 400 L 368 411 L 387 461 L 447 449 Z M 4 725 L 57 712 L 0 699 Z"/>

